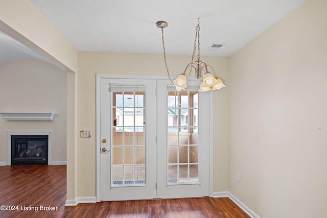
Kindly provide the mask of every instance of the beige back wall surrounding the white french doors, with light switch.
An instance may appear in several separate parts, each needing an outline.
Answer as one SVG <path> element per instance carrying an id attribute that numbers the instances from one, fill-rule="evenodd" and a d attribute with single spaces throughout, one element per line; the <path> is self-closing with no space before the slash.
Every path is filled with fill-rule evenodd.
<path id="1" fill-rule="evenodd" d="M 228 59 L 203 57 L 228 85 Z M 172 76 L 178 76 L 189 56 L 168 56 Z M 78 60 L 78 130 L 90 130 L 91 138 L 78 138 L 78 196 L 96 196 L 96 74 L 166 76 L 162 55 L 80 52 Z M 215 94 L 214 191 L 228 189 L 228 88 Z M 217 100 L 217 101 L 216 101 Z"/>

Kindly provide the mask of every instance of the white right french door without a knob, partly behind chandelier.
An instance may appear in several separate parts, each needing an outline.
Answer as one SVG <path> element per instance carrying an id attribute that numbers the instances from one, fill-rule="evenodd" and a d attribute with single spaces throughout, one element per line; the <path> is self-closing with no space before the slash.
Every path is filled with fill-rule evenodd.
<path id="1" fill-rule="evenodd" d="M 157 98 L 157 198 L 209 196 L 209 93 L 159 80 Z"/>

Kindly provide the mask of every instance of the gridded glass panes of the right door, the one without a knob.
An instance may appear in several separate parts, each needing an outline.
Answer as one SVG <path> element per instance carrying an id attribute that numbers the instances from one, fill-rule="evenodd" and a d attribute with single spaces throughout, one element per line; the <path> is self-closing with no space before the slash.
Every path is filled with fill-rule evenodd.
<path id="1" fill-rule="evenodd" d="M 167 185 L 200 183 L 198 96 L 168 89 Z"/>

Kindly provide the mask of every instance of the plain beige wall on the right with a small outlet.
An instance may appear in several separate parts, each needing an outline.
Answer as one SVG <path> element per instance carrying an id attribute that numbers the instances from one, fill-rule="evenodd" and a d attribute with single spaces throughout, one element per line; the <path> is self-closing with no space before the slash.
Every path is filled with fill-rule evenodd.
<path id="1" fill-rule="evenodd" d="M 230 58 L 229 191 L 260 217 L 327 217 L 326 9 L 309 0 Z"/>

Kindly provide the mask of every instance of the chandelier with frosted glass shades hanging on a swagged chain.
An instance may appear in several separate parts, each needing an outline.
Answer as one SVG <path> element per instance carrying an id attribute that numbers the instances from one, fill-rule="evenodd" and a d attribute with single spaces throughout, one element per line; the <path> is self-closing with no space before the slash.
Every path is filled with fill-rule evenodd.
<path id="1" fill-rule="evenodd" d="M 165 60 L 165 66 L 167 69 L 167 74 L 169 80 L 173 83 L 173 86 L 176 87 L 178 91 L 185 90 L 185 88 L 188 86 L 186 83 L 190 78 L 190 75 L 192 73 L 192 69 L 195 70 L 195 79 L 197 81 L 202 82 L 200 84 L 199 91 L 211 91 L 211 90 L 217 90 L 225 87 L 224 83 L 216 76 L 215 70 L 212 66 L 207 65 L 203 61 L 200 60 L 200 18 L 198 18 L 198 23 L 195 27 L 195 40 L 194 40 L 194 49 L 193 49 L 193 55 L 192 55 L 192 61 L 189 63 L 182 74 L 180 74 L 175 80 L 172 80 L 170 78 L 167 60 L 166 60 L 166 49 L 165 49 L 165 40 L 164 40 L 164 28 L 168 26 L 168 23 L 166 21 L 158 21 L 156 22 L 156 25 L 158 28 L 161 28 L 161 34 L 162 34 L 162 48 L 164 49 L 164 60 Z M 194 60 L 195 52 L 196 52 L 196 44 L 198 42 L 198 60 Z M 213 71 L 214 74 L 208 71 L 208 68 Z M 188 77 L 186 77 L 186 71 L 188 71 Z"/>

